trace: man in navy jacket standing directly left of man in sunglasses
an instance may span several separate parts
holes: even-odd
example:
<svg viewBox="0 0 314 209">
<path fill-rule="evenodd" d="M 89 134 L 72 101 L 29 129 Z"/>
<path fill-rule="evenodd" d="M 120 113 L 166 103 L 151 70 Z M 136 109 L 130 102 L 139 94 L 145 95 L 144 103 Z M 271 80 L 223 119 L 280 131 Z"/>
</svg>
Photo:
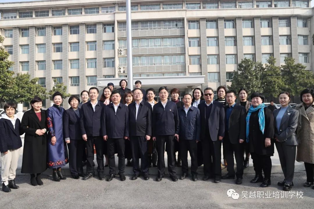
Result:
<svg viewBox="0 0 314 209">
<path fill-rule="evenodd" d="M 182 162 L 182 175 L 180 179 L 183 180 L 188 175 L 187 151 L 189 151 L 191 156 L 192 180 L 197 181 L 197 143 L 200 140 L 201 118 L 199 115 L 199 109 L 191 106 L 191 102 L 191 94 L 183 95 L 184 106 L 178 110 L 180 118 L 179 145 Z"/>
</svg>

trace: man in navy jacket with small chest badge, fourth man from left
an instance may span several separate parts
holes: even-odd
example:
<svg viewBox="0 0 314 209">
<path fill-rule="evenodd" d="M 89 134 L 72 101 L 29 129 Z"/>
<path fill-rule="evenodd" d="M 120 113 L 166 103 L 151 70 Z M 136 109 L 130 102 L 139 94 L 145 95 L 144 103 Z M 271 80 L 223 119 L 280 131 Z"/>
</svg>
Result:
<svg viewBox="0 0 314 209">
<path fill-rule="evenodd" d="M 159 88 L 160 101 L 154 105 L 153 111 L 153 140 L 158 150 L 158 176 L 161 181 L 165 171 L 165 148 L 168 157 L 168 171 L 173 181 L 177 181 L 174 159 L 174 140 L 179 140 L 179 114 L 176 103 L 168 100 L 168 88 Z"/>
</svg>

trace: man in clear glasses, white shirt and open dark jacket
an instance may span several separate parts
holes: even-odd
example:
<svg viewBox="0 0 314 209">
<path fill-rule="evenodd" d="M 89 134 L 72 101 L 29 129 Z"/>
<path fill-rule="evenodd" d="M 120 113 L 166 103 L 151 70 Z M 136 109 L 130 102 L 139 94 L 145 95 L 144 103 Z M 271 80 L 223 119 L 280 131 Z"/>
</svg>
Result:
<svg viewBox="0 0 314 209">
<path fill-rule="evenodd" d="M 143 100 L 140 88 L 133 90 L 135 102 L 129 104 L 129 135 L 132 149 L 133 172 L 131 180 L 136 180 L 142 170 L 144 180 L 149 180 L 147 142 L 152 135 L 152 106 Z M 141 157 L 141 170 L 139 168 L 139 156 Z"/>
</svg>

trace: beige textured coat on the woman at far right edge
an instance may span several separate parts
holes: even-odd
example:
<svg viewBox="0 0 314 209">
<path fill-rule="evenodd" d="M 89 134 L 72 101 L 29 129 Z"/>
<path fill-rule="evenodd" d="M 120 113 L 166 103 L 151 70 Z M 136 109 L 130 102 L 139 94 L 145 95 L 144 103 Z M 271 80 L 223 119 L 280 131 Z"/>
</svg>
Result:
<svg viewBox="0 0 314 209">
<path fill-rule="evenodd" d="M 314 102 L 305 111 L 304 104 L 298 104 L 295 107 L 300 112 L 297 128 L 297 155 L 299 162 L 314 164 Z"/>
</svg>

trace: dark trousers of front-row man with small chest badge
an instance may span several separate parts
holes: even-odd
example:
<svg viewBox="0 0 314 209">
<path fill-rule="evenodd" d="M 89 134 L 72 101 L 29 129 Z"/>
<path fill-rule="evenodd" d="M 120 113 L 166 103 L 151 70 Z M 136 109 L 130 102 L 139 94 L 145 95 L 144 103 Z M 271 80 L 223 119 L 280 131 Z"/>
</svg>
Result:
<svg viewBox="0 0 314 209">
<path fill-rule="evenodd" d="M 158 175 L 164 175 L 165 172 L 165 148 L 168 159 L 168 172 L 170 176 L 176 176 L 175 158 L 174 158 L 174 135 L 156 136 L 158 150 L 157 169 Z"/>
</svg>

